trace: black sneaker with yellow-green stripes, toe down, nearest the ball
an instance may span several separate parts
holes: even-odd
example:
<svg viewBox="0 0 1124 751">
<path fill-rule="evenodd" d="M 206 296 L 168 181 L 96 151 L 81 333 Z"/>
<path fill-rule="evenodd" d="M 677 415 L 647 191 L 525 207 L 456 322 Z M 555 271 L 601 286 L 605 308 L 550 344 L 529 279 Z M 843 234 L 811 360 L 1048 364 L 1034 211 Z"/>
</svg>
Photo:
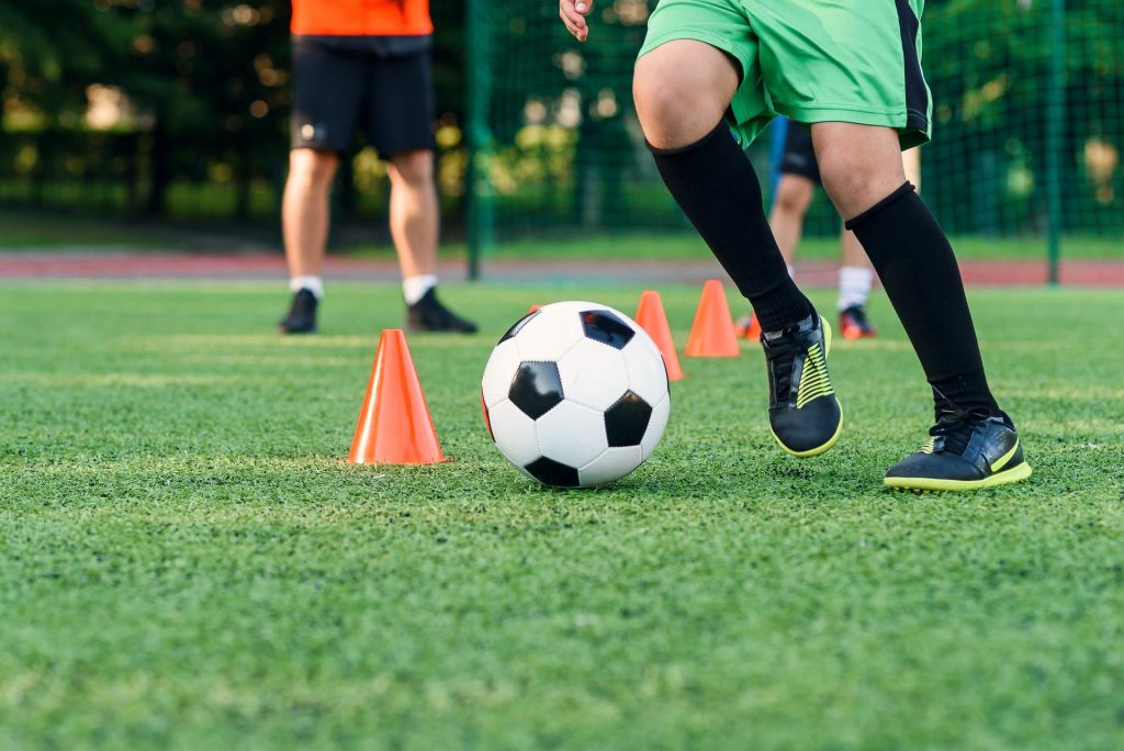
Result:
<svg viewBox="0 0 1124 751">
<path fill-rule="evenodd" d="M 794 456 L 816 456 L 835 445 L 843 410 L 827 374 L 832 329 L 818 313 L 779 332 L 762 332 L 769 371 L 769 425 Z"/>
</svg>

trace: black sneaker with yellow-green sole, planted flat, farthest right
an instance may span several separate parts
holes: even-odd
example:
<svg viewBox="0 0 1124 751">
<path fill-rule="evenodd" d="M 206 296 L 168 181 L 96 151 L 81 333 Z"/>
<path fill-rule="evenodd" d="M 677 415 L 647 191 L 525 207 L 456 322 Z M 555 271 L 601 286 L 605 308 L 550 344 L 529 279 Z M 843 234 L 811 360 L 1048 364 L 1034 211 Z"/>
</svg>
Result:
<svg viewBox="0 0 1124 751">
<path fill-rule="evenodd" d="M 904 490 L 976 490 L 1031 476 L 1015 425 L 1006 415 L 944 409 L 930 440 L 886 470 L 882 483 Z"/>
</svg>

